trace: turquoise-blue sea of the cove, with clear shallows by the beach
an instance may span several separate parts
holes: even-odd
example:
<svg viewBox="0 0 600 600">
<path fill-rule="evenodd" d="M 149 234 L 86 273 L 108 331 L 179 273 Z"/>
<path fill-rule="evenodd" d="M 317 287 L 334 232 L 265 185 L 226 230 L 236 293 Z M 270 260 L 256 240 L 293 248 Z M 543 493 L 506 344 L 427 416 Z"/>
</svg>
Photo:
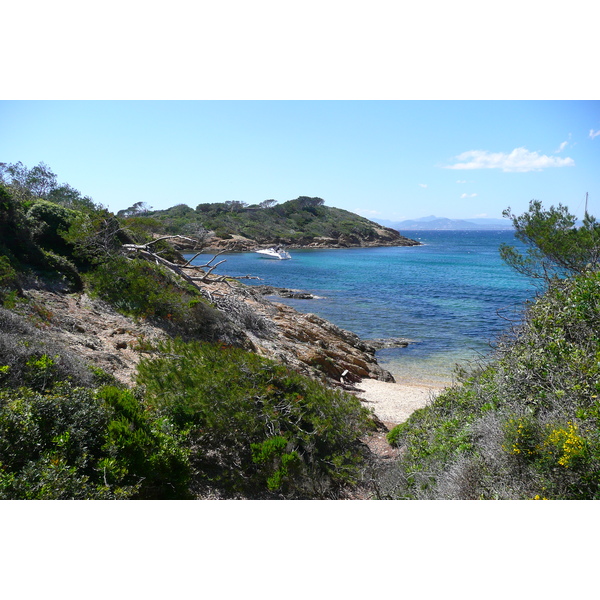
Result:
<svg viewBox="0 0 600 600">
<path fill-rule="evenodd" d="M 377 351 L 397 382 L 443 387 L 457 368 L 489 360 L 499 336 L 522 318 L 536 295 L 531 281 L 499 255 L 513 230 L 404 233 L 421 246 L 290 250 L 290 260 L 230 253 L 215 273 L 251 275 L 249 285 L 310 292 L 318 299 L 273 300 L 314 313 L 363 339 L 404 338 Z M 200 255 L 203 264 L 212 255 Z"/>
</svg>

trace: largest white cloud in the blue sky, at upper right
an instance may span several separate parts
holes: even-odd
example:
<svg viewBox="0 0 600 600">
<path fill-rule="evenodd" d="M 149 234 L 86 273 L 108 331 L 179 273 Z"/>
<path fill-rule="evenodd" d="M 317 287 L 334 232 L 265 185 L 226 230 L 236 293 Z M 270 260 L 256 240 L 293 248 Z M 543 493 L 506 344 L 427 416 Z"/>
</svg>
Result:
<svg viewBox="0 0 600 600">
<path fill-rule="evenodd" d="M 572 158 L 558 158 L 530 152 L 527 148 L 515 148 L 510 154 L 506 152 L 488 152 L 487 150 L 469 150 L 459 154 L 459 161 L 446 169 L 502 169 L 504 172 L 526 173 L 542 171 L 550 167 L 572 167 Z"/>
</svg>

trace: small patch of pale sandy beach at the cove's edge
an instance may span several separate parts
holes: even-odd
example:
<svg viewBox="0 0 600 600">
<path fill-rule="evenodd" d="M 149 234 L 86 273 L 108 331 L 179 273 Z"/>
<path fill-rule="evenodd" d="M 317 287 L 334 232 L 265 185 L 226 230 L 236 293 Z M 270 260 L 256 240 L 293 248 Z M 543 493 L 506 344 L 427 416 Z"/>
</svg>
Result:
<svg viewBox="0 0 600 600">
<path fill-rule="evenodd" d="M 376 379 L 363 379 L 356 385 L 362 390 L 358 398 L 384 423 L 398 424 L 406 421 L 417 409 L 426 406 L 441 388 L 427 385 L 386 383 Z"/>
</svg>

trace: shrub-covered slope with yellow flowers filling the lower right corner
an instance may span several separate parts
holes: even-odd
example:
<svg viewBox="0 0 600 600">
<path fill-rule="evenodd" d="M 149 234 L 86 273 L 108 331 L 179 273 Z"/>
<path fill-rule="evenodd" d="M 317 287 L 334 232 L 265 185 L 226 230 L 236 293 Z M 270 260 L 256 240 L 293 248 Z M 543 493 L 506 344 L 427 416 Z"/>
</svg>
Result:
<svg viewBox="0 0 600 600">
<path fill-rule="evenodd" d="M 495 360 L 390 433 L 396 494 L 600 498 L 600 273 L 555 281 Z"/>
</svg>

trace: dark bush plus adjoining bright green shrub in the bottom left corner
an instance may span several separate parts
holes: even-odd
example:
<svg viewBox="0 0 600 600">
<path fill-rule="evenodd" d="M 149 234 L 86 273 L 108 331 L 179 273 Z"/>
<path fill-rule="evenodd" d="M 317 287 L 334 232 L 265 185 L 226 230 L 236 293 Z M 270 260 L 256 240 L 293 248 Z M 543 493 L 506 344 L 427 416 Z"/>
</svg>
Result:
<svg viewBox="0 0 600 600">
<path fill-rule="evenodd" d="M 187 452 L 131 392 L 0 391 L 0 498 L 186 498 Z"/>
</svg>

